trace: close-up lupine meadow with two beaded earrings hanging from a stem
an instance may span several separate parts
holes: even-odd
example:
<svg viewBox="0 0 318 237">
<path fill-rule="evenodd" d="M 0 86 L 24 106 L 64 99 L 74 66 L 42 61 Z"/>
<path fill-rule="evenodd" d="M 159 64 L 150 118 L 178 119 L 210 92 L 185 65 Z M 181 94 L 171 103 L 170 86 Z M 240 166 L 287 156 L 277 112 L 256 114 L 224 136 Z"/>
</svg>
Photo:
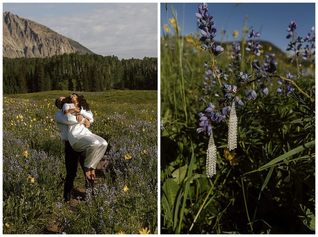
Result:
<svg viewBox="0 0 318 237">
<path fill-rule="evenodd" d="M 314 234 L 315 28 L 287 19 L 288 55 L 247 18 L 225 41 L 213 3 L 185 36 L 163 9 L 161 234 Z"/>
</svg>

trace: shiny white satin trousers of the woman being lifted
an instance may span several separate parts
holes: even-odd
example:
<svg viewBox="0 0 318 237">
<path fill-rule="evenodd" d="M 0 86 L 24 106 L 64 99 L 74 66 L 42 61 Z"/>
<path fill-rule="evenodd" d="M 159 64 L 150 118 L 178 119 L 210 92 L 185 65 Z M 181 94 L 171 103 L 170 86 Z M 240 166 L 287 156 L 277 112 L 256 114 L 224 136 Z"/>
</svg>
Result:
<svg viewBox="0 0 318 237">
<path fill-rule="evenodd" d="M 86 151 L 84 166 L 95 169 L 104 155 L 108 143 L 100 136 L 89 134 L 81 137 L 73 144 L 75 151 Z"/>
</svg>

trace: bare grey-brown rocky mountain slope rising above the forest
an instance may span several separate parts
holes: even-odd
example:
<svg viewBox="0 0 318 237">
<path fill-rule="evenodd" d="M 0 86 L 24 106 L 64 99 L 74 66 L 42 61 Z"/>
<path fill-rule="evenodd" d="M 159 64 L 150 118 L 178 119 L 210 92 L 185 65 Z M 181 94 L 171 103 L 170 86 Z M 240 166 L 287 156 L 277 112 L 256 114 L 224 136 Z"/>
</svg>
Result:
<svg viewBox="0 0 318 237">
<path fill-rule="evenodd" d="M 28 19 L 3 13 L 3 56 L 51 57 L 64 53 L 93 54 L 80 43 Z"/>
</svg>

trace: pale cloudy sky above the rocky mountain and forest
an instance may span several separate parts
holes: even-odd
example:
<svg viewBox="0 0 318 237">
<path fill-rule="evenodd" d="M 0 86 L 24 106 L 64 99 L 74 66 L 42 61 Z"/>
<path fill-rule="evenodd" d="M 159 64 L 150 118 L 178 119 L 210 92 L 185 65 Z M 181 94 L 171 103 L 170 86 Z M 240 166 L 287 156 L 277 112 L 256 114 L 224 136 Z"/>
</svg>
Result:
<svg viewBox="0 0 318 237">
<path fill-rule="evenodd" d="M 158 54 L 157 3 L 3 3 L 5 11 L 103 56 L 142 59 Z"/>
</svg>

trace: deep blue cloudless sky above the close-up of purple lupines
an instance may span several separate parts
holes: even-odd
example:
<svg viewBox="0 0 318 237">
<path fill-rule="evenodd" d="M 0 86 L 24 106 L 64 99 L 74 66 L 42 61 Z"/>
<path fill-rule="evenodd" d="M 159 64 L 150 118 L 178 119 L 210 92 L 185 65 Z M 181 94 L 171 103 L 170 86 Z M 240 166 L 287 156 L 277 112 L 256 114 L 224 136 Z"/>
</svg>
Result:
<svg viewBox="0 0 318 237">
<path fill-rule="evenodd" d="M 184 35 L 191 32 L 198 32 L 197 18 L 198 3 L 173 3 L 177 11 L 178 23 L 184 30 Z M 220 40 L 222 27 L 225 28 L 228 38 L 233 41 L 232 32 L 239 31 L 240 39 L 245 15 L 248 16 L 248 28 L 259 31 L 260 40 L 272 42 L 274 45 L 286 51 L 290 40 L 286 39 L 288 27 L 291 20 L 296 20 L 298 36 L 305 37 L 312 26 L 315 26 L 315 3 L 208 3 L 208 9 L 214 18 L 215 28 L 217 29 L 216 41 Z M 232 13 L 232 14 L 231 14 Z M 171 6 L 168 7 L 168 19 L 172 18 Z M 183 22 L 184 18 L 184 24 Z M 165 4 L 160 4 L 160 20 L 162 24 L 167 24 Z M 162 36 L 162 29 L 161 29 Z"/>
</svg>

